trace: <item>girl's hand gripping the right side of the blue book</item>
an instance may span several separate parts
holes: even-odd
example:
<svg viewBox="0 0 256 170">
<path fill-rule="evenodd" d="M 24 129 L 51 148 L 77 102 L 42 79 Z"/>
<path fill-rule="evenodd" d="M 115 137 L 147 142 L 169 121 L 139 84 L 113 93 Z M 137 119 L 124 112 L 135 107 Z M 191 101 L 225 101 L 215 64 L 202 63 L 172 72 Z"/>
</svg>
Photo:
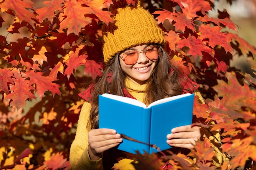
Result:
<svg viewBox="0 0 256 170">
<path fill-rule="evenodd" d="M 175 147 L 193 149 L 195 141 L 201 137 L 200 128 L 198 126 L 193 126 L 193 128 L 191 128 L 191 125 L 180 126 L 173 128 L 171 132 L 171 134 L 166 136 L 166 142 L 168 145 Z"/>
</svg>

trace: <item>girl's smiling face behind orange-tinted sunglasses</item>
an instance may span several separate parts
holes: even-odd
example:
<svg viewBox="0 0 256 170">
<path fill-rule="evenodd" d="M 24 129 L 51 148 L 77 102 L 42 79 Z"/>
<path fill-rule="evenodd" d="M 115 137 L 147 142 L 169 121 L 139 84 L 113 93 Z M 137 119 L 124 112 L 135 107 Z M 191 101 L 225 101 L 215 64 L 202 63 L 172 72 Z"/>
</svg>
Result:
<svg viewBox="0 0 256 170">
<path fill-rule="evenodd" d="M 148 59 L 143 51 L 147 51 L 147 56 L 155 56 L 159 54 L 159 47 L 153 45 L 139 45 L 127 49 L 119 55 L 122 70 L 126 73 L 128 78 L 132 79 L 138 84 L 144 84 L 149 79 L 155 66 L 157 65 L 157 61 L 159 58 L 157 55 L 153 59 Z M 135 62 L 130 62 L 130 60 L 128 60 L 128 57 L 132 55 L 137 55 L 136 52 L 138 52 L 138 60 Z M 127 63 L 130 65 L 128 65 Z"/>
</svg>

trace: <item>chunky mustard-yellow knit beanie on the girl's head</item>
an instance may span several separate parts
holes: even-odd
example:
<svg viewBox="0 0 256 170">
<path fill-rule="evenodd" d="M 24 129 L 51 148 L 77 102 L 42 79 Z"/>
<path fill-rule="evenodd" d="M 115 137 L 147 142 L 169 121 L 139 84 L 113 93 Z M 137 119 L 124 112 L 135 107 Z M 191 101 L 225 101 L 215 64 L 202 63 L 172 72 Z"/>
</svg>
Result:
<svg viewBox="0 0 256 170">
<path fill-rule="evenodd" d="M 119 8 L 114 21 L 115 26 L 109 26 L 103 34 L 105 63 L 132 46 L 166 43 L 163 31 L 158 27 L 156 20 L 142 7 Z"/>
</svg>

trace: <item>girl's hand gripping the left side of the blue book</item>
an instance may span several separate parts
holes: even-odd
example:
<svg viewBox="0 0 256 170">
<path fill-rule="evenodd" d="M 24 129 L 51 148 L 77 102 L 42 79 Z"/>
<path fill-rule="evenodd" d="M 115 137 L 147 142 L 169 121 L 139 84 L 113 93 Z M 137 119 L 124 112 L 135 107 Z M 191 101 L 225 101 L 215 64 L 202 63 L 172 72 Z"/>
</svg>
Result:
<svg viewBox="0 0 256 170">
<path fill-rule="evenodd" d="M 88 132 L 88 152 L 91 160 L 98 160 L 105 150 L 113 148 L 123 141 L 116 130 L 100 128 Z"/>
</svg>

